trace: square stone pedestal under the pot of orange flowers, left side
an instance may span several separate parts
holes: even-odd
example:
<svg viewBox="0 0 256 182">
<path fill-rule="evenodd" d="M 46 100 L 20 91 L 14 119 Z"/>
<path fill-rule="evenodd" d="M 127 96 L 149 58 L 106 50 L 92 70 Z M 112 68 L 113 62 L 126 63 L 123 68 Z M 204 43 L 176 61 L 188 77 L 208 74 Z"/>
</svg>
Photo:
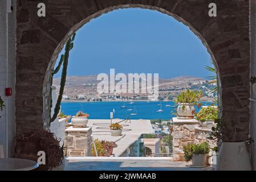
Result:
<svg viewBox="0 0 256 182">
<path fill-rule="evenodd" d="M 68 127 L 67 132 L 67 156 L 91 156 L 92 127 L 73 128 Z"/>
</svg>

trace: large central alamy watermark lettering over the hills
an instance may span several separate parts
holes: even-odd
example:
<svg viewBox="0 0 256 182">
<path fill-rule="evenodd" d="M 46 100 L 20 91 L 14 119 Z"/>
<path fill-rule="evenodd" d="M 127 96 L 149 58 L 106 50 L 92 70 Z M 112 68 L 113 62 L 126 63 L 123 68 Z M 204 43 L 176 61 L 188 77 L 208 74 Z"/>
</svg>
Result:
<svg viewBox="0 0 256 182">
<path fill-rule="evenodd" d="M 97 92 L 99 94 L 148 94 L 150 100 L 159 97 L 159 74 L 158 73 L 118 73 L 110 69 L 110 75 L 100 73 L 97 75 Z"/>
</svg>

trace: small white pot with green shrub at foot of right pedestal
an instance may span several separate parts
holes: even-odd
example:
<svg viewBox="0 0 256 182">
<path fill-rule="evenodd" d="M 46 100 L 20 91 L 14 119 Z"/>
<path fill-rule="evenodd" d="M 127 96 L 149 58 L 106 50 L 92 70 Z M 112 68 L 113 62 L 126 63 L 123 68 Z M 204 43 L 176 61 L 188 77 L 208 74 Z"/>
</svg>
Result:
<svg viewBox="0 0 256 182">
<path fill-rule="evenodd" d="M 192 160 L 193 167 L 205 167 L 206 157 L 209 154 L 209 143 L 203 142 L 200 144 L 186 144 L 183 146 L 185 153 L 185 160 L 189 162 Z"/>
</svg>

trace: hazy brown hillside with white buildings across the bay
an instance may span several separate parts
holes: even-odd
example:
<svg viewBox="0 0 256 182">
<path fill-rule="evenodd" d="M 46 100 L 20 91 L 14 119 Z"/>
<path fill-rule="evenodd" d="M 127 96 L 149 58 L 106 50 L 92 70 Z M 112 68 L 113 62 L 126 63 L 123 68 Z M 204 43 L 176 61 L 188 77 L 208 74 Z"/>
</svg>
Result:
<svg viewBox="0 0 256 182">
<path fill-rule="evenodd" d="M 97 92 L 97 84 L 100 81 L 97 80 L 96 75 L 90 76 L 68 76 L 66 85 L 64 88 L 64 95 L 67 95 L 71 100 L 76 100 L 77 96 L 82 94 L 86 96 L 86 99 L 101 98 L 101 95 Z M 118 81 L 116 81 L 118 82 Z M 208 80 L 201 77 L 180 76 L 174 78 L 159 78 L 159 96 L 164 100 L 170 100 L 175 98 L 183 92 L 185 89 L 202 90 L 204 92 L 205 100 L 212 100 L 213 93 L 210 92 L 214 88 L 214 85 L 206 84 Z M 54 78 L 53 86 L 56 86 L 57 93 L 59 92 L 60 78 Z M 123 97 L 143 98 L 147 94 L 120 94 Z M 138 97 L 139 96 L 139 97 Z"/>
</svg>

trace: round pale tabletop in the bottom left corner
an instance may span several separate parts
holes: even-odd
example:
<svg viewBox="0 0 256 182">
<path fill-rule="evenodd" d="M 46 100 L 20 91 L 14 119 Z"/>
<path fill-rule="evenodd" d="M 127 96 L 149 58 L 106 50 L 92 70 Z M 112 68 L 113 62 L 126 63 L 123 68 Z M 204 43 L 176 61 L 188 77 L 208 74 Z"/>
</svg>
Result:
<svg viewBox="0 0 256 182">
<path fill-rule="evenodd" d="M 0 159 L 0 171 L 30 171 L 38 166 L 38 163 L 28 159 Z"/>
</svg>

